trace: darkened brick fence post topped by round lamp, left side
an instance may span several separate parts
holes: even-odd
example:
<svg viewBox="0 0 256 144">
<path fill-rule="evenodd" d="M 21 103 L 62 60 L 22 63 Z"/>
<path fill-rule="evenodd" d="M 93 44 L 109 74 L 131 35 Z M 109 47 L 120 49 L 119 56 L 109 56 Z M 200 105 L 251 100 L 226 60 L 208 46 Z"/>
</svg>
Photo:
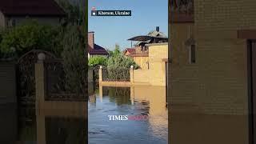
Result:
<svg viewBox="0 0 256 144">
<path fill-rule="evenodd" d="M 40 108 L 41 104 L 45 101 L 45 78 L 44 78 L 44 64 L 46 55 L 43 53 L 38 54 L 38 62 L 35 63 L 35 90 L 36 90 L 36 108 Z"/>
</svg>

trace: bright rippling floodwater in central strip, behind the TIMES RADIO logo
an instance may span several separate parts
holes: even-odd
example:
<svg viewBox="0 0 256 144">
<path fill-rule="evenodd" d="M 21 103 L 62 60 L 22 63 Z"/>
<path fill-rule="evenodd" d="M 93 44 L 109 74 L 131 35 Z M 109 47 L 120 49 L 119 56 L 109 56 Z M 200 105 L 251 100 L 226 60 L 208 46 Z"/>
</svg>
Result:
<svg viewBox="0 0 256 144">
<path fill-rule="evenodd" d="M 168 117 L 165 86 L 91 87 L 89 143 L 166 144 Z M 108 115 L 147 115 L 146 120 L 110 121 Z"/>
</svg>

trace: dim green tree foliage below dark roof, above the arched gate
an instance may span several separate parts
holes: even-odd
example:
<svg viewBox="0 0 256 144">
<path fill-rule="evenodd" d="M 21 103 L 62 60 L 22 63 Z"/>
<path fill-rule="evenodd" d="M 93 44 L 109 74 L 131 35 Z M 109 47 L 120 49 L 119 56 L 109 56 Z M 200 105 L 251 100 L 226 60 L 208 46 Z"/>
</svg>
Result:
<svg viewBox="0 0 256 144">
<path fill-rule="evenodd" d="M 57 0 L 57 2 L 67 14 L 62 26 L 43 26 L 28 19 L 18 26 L 0 30 L 0 58 L 18 58 L 32 49 L 50 51 L 61 57 L 63 49 L 61 42 L 69 26 L 81 26 L 81 30 L 86 34 L 87 2 L 82 0 L 78 3 L 66 0 Z"/>
</svg>

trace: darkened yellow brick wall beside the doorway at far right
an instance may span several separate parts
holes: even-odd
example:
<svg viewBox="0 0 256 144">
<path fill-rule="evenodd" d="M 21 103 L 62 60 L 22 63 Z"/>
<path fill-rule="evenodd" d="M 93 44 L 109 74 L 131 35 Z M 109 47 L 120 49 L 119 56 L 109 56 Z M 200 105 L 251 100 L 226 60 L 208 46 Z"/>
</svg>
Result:
<svg viewBox="0 0 256 144">
<path fill-rule="evenodd" d="M 254 0 L 197 0 L 199 98 L 207 114 L 247 114 L 246 40 L 237 30 L 256 28 Z M 207 81 L 206 81 L 207 79 Z"/>
</svg>

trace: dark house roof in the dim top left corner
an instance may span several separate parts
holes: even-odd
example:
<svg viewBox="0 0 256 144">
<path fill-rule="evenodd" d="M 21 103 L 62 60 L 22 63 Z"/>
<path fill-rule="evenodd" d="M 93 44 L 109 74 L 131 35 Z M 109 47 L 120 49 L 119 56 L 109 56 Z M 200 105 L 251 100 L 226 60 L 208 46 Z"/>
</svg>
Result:
<svg viewBox="0 0 256 144">
<path fill-rule="evenodd" d="M 65 16 L 54 0 L 0 0 L 0 10 L 7 16 Z"/>
</svg>

